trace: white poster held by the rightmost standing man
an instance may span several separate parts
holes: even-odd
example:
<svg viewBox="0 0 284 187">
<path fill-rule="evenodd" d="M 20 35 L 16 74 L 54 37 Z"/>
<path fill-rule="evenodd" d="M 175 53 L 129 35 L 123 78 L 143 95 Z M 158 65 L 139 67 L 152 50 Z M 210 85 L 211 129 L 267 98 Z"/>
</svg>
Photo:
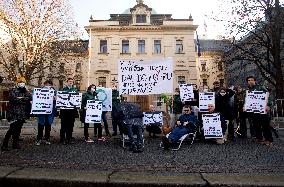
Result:
<svg viewBox="0 0 284 187">
<path fill-rule="evenodd" d="M 268 102 L 268 92 L 265 91 L 248 91 L 245 98 L 245 111 L 266 114 Z"/>
</svg>

